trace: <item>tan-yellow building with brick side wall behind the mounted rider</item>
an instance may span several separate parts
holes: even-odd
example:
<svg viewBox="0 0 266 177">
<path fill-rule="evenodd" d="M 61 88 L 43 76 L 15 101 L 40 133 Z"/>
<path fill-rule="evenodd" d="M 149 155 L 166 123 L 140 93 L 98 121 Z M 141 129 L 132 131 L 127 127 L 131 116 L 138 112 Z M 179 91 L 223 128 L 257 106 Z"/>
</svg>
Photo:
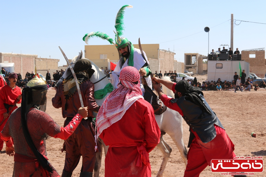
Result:
<svg viewBox="0 0 266 177">
<path fill-rule="evenodd" d="M 138 44 L 133 44 L 134 48 L 139 48 Z M 142 50 L 146 53 L 148 61 L 150 62 L 150 69 L 152 73 L 160 70 L 184 72 L 184 63 L 174 60 L 174 54 L 168 50 L 159 48 L 159 44 L 142 44 Z M 91 60 L 99 68 L 107 67 L 110 69 L 110 62 L 117 63 L 119 54 L 115 45 L 85 45 L 85 58 Z"/>
</svg>

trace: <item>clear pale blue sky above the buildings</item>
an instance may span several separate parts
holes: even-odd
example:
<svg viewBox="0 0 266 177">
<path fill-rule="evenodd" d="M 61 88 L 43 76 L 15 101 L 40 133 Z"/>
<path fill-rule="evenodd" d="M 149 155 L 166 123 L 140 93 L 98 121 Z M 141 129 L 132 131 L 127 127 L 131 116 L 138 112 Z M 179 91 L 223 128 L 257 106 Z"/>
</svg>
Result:
<svg viewBox="0 0 266 177">
<path fill-rule="evenodd" d="M 221 44 L 230 45 L 231 26 L 227 20 L 231 14 L 236 20 L 266 23 L 266 1 L 1 0 L 0 3 L 0 52 L 37 54 L 41 58 L 51 55 L 60 59 L 59 65 L 66 61 L 58 46 L 71 59 L 84 50 L 82 37 L 86 33 L 101 31 L 114 38 L 116 13 L 125 4 L 133 8 L 126 9 L 123 36 L 132 43 L 137 43 L 139 37 L 142 44 L 159 43 L 160 49 L 174 50 L 176 60 L 181 62 L 184 53 L 207 55 L 206 26 L 210 27 L 210 50 L 218 50 Z M 266 47 L 265 31 L 266 24 L 235 25 L 234 50 Z M 89 44 L 109 43 L 94 38 Z"/>
</svg>

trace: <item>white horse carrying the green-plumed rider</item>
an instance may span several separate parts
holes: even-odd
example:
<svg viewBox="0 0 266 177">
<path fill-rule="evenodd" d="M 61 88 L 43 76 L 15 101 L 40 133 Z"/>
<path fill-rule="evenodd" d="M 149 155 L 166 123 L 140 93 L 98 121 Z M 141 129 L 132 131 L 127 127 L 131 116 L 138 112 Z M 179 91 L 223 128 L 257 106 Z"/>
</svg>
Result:
<svg viewBox="0 0 266 177">
<path fill-rule="evenodd" d="M 77 60 L 79 60 L 81 58 L 82 58 L 82 51 L 81 51 L 80 55 L 78 55 L 77 57 L 74 57 L 72 59 L 71 65 L 73 68 L 74 68 L 74 64 L 77 62 Z M 95 73 L 90 78 L 90 81 L 95 83 L 96 81 L 99 81 L 101 78 L 104 78 L 106 75 L 93 62 L 91 62 L 91 64 L 92 64 L 92 68 L 95 70 Z M 59 84 L 63 81 L 62 79 L 66 79 L 70 75 L 71 75 L 71 71 L 67 68 L 64 75 L 58 81 L 56 86 L 59 86 Z M 170 80 L 169 77 L 166 77 L 165 79 Z M 108 83 L 110 83 L 110 81 L 108 80 L 107 77 L 104 78 L 103 80 L 101 80 L 100 82 L 95 83 L 94 84 L 94 91 L 103 89 Z M 173 92 L 164 86 L 163 86 L 163 91 L 168 96 L 171 96 L 172 98 L 174 97 Z M 100 99 L 100 100 L 96 99 L 96 103 L 98 105 L 102 105 L 103 101 L 106 99 L 108 94 L 103 99 Z M 96 117 L 96 115 L 95 115 L 95 117 Z M 187 150 L 186 150 L 186 147 L 185 147 L 184 142 L 183 142 L 182 117 L 178 112 L 167 108 L 166 112 L 164 112 L 163 114 L 155 115 L 155 119 L 156 119 L 156 122 L 158 123 L 158 126 L 160 127 L 160 130 L 162 133 L 162 135 L 160 137 L 160 143 L 157 145 L 157 147 L 163 153 L 163 161 L 162 161 L 162 164 L 161 164 L 160 169 L 158 171 L 157 177 L 162 177 L 163 172 L 164 172 L 165 167 L 166 167 L 166 163 L 167 163 L 168 158 L 170 157 L 170 153 L 172 151 L 171 147 L 163 139 L 163 135 L 165 133 L 170 135 L 170 137 L 172 138 L 172 140 L 174 141 L 174 143 L 176 144 L 177 148 L 180 151 L 180 154 L 181 154 L 182 159 L 184 160 L 185 166 L 187 164 L 187 160 L 186 160 Z M 101 159 L 102 159 L 102 150 L 104 149 L 105 155 L 107 154 L 107 150 L 108 150 L 108 146 L 106 146 L 100 138 L 98 138 L 98 142 L 100 143 L 100 147 L 98 147 L 98 148 L 101 149 L 101 152 L 96 153 L 94 177 L 99 176 L 100 167 L 101 167 Z"/>
</svg>

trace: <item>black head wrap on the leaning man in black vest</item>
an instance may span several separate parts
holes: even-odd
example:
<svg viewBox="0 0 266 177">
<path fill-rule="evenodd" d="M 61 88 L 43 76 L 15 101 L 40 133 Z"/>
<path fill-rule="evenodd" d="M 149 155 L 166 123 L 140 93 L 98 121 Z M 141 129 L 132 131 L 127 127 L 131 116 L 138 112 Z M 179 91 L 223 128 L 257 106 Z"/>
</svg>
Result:
<svg viewBox="0 0 266 177">
<path fill-rule="evenodd" d="M 207 112 L 208 114 L 212 115 L 210 110 L 204 104 L 203 100 L 200 98 L 200 94 L 202 94 L 203 96 L 203 93 L 200 88 L 192 87 L 192 85 L 187 81 L 179 81 L 176 83 L 175 90 L 180 92 L 182 96 L 185 96 L 186 100 L 189 99 L 194 104 L 200 106 L 203 112 Z"/>
</svg>

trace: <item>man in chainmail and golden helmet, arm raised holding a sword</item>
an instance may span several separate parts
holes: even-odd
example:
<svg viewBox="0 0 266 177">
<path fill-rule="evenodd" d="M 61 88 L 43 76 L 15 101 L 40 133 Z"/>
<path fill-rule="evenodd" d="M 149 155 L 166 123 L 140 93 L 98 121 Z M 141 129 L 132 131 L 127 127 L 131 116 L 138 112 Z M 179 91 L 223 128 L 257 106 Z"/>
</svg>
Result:
<svg viewBox="0 0 266 177">
<path fill-rule="evenodd" d="M 87 108 L 80 108 L 66 127 L 60 127 L 44 112 L 47 99 L 45 81 L 36 74 L 27 86 L 22 90 L 21 107 L 10 115 L 1 132 L 1 138 L 6 142 L 6 153 L 14 155 L 13 177 L 59 177 L 46 157 L 46 139 L 48 136 L 67 139 L 82 118 L 87 117 Z"/>
</svg>

